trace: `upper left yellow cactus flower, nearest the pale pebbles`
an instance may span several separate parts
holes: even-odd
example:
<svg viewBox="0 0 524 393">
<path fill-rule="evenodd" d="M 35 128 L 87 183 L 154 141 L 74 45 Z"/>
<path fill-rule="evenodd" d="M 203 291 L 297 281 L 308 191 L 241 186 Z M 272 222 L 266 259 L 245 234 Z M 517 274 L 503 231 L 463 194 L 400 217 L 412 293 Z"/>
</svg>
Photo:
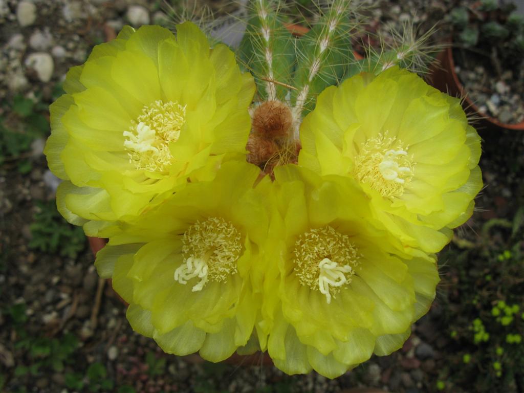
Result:
<svg viewBox="0 0 524 393">
<path fill-rule="evenodd" d="M 132 220 L 188 178 L 209 180 L 221 161 L 244 159 L 253 77 L 189 22 L 176 37 L 124 27 L 68 72 L 64 90 L 50 107 L 45 154 L 74 224 Z"/>
</svg>

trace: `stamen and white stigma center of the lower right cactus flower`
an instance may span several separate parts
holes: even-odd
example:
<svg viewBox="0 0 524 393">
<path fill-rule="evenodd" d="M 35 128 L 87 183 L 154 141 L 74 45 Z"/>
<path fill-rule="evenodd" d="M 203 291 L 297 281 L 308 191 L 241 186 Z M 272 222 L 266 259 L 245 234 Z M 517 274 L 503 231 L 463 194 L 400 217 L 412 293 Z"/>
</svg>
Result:
<svg viewBox="0 0 524 393">
<path fill-rule="evenodd" d="M 351 282 L 359 264 L 357 248 L 350 238 L 329 225 L 300 235 L 293 254 L 300 283 L 320 291 L 328 304 L 341 287 Z"/>
</svg>

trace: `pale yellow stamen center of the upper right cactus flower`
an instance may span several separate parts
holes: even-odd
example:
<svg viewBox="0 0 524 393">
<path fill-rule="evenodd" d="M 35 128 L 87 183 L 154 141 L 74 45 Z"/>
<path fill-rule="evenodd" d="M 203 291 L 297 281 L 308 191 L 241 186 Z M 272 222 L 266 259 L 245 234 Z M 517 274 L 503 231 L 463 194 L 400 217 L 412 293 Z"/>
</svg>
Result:
<svg viewBox="0 0 524 393">
<path fill-rule="evenodd" d="M 361 145 L 355 159 L 355 177 L 386 198 L 400 196 L 413 177 L 408 148 L 386 132 Z"/>
</svg>

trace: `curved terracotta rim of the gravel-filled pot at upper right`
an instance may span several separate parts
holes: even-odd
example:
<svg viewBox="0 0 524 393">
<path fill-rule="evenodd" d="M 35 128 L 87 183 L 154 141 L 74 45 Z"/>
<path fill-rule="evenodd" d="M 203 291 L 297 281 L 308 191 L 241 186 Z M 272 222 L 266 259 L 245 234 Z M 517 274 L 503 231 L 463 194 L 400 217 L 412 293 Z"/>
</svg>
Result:
<svg viewBox="0 0 524 393">
<path fill-rule="evenodd" d="M 433 67 L 430 84 L 451 96 L 464 97 L 462 106 L 467 113 L 473 114 L 475 118 L 478 118 L 475 125 L 483 139 L 497 139 L 496 132 L 501 130 L 524 130 L 524 121 L 516 124 L 506 124 L 479 112 L 478 106 L 470 99 L 467 90 L 455 72 L 455 61 L 453 60 L 453 49 L 451 47 L 440 52 L 437 59 L 440 62 L 440 66 Z"/>
</svg>

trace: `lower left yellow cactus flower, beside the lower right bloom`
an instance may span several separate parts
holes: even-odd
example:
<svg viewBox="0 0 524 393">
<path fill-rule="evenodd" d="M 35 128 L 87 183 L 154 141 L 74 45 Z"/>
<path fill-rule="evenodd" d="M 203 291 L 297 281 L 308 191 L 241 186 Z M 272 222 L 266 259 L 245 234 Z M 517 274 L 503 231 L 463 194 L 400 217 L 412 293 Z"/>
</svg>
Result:
<svg viewBox="0 0 524 393">
<path fill-rule="evenodd" d="M 133 329 L 163 351 L 219 362 L 252 337 L 269 222 L 253 188 L 259 172 L 223 163 L 214 180 L 190 183 L 137 223 L 104 233 L 110 242 L 95 266 L 129 303 Z"/>
</svg>

